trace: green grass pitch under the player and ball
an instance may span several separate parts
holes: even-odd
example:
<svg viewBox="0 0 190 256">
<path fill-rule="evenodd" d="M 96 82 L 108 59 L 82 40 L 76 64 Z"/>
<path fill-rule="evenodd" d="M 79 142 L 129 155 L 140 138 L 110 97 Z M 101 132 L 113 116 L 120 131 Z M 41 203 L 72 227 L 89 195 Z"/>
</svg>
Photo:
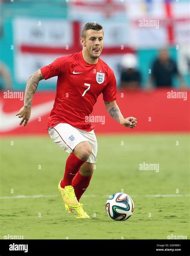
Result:
<svg viewBox="0 0 190 256">
<path fill-rule="evenodd" d="M 121 134 L 97 140 L 96 169 L 81 198 L 91 219 L 81 220 L 65 211 L 58 190 L 69 154 L 48 136 L 2 138 L 0 239 L 8 234 L 24 239 L 167 239 L 171 234 L 189 239 L 188 135 Z M 143 162 L 159 163 L 159 172 L 140 171 Z M 129 220 L 113 221 L 105 202 L 122 189 L 133 198 L 135 210 Z"/>
</svg>

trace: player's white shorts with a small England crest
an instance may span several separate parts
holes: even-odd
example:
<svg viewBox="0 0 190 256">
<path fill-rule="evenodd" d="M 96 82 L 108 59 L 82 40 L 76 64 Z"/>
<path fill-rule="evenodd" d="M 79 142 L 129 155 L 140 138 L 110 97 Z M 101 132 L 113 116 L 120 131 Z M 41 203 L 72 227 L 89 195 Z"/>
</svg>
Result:
<svg viewBox="0 0 190 256">
<path fill-rule="evenodd" d="M 73 153 L 73 149 L 82 141 L 88 141 L 92 148 L 92 153 L 87 159 L 89 163 L 96 162 L 97 156 L 97 139 L 94 130 L 86 132 L 71 126 L 70 124 L 57 124 L 49 128 L 49 135 L 52 140 L 68 153 Z"/>
</svg>

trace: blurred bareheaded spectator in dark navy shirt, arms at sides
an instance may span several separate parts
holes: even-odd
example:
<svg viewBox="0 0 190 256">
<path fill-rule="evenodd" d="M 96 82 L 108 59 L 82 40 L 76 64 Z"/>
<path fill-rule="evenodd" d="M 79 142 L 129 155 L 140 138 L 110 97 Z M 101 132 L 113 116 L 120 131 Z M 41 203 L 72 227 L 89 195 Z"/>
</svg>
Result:
<svg viewBox="0 0 190 256">
<path fill-rule="evenodd" d="M 152 76 L 148 87 L 172 87 L 172 78 L 177 75 L 180 81 L 180 87 L 186 87 L 184 78 L 180 74 L 177 64 L 172 60 L 166 49 L 159 52 L 158 58 L 152 64 Z"/>
</svg>

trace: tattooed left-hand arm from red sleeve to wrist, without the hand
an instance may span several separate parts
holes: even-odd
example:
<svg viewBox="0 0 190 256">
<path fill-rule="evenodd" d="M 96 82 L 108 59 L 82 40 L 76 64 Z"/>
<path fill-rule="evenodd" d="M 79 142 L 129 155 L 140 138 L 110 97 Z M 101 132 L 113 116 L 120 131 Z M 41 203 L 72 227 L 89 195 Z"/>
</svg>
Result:
<svg viewBox="0 0 190 256">
<path fill-rule="evenodd" d="M 24 93 L 24 107 L 32 107 L 34 93 L 38 87 L 38 83 L 42 79 L 44 79 L 44 77 L 42 76 L 40 69 L 29 77 L 26 84 L 26 90 Z"/>
</svg>

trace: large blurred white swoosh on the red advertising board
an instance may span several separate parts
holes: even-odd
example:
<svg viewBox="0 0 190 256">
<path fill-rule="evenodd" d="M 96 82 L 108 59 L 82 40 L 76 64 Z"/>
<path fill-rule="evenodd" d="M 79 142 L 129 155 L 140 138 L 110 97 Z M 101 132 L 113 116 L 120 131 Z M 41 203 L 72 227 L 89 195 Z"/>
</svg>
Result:
<svg viewBox="0 0 190 256">
<path fill-rule="evenodd" d="M 3 104 L 0 102 L 0 132 L 8 132 L 11 130 L 14 130 L 18 128 L 20 125 L 20 121 L 22 118 L 18 118 L 18 116 L 15 116 L 16 113 L 19 111 L 19 109 L 15 110 L 14 112 L 4 112 L 3 111 Z M 53 101 L 47 101 L 45 103 L 41 103 L 38 105 L 34 105 L 32 107 L 31 116 L 28 122 L 33 121 L 37 119 L 39 116 L 45 116 L 46 114 L 49 114 L 51 109 L 53 108 Z M 28 124 L 27 124 L 28 125 Z"/>
</svg>

